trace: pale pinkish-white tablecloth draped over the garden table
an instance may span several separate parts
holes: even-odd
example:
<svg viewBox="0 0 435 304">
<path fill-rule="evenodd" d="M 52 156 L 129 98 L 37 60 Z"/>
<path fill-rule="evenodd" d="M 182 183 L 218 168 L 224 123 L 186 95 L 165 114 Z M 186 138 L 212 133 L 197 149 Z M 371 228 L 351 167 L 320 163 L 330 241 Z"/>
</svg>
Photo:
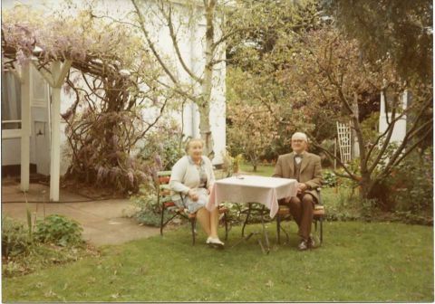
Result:
<svg viewBox="0 0 435 304">
<path fill-rule="evenodd" d="M 212 211 L 222 202 L 260 203 L 266 205 L 273 218 L 278 212 L 278 199 L 296 196 L 297 181 L 265 176 L 232 176 L 215 182 L 207 209 Z"/>
</svg>

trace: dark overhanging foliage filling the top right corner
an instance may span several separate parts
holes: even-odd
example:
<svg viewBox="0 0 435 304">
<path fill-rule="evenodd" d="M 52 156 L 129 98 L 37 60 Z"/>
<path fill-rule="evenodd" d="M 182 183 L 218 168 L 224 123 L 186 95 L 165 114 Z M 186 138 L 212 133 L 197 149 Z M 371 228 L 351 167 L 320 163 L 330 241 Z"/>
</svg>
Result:
<svg viewBox="0 0 435 304">
<path fill-rule="evenodd" d="M 432 2 L 323 0 L 335 25 L 360 43 L 373 62 L 391 57 L 403 80 L 432 75 Z"/>
</svg>

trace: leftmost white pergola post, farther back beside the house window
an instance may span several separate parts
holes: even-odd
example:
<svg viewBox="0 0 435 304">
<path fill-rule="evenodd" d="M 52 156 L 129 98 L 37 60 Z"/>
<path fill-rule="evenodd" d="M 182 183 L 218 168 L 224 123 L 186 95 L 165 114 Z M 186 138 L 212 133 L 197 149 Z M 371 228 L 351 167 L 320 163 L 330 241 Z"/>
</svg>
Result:
<svg viewBox="0 0 435 304">
<path fill-rule="evenodd" d="M 30 66 L 24 64 L 21 71 L 21 185 L 29 190 L 30 181 Z"/>
</svg>

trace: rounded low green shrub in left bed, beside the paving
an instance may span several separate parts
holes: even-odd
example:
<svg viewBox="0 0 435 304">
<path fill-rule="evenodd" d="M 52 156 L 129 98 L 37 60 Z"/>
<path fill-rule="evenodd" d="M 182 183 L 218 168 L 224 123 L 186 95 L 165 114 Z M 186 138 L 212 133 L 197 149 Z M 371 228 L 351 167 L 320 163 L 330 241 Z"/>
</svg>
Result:
<svg viewBox="0 0 435 304">
<path fill-rule="evenodd" d="M 34 238 L 60 246 L 82 244 L 82 226 L 66 216 L 51 214 L 36 223 Z"/>
</svg>

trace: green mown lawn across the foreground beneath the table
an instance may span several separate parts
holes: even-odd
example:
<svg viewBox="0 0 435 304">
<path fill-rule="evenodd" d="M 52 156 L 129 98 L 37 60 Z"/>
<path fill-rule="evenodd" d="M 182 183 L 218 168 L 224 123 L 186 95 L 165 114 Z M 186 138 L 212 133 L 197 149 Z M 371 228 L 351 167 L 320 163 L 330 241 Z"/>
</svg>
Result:
<svg viewBox="0 0 435 304">
<path fill-rule="evenodd" d="M 102 249 L 102 257 L 3 280 L 4 301 L 433 301 L 433 228 L 401 223 L 324 223 L 324 245 L 261 252 L 254 238 L 208 248 L 189 226 Z M 259 225 L 248 225 L 247 232 Z M 222 230 L 220 231 L 222 233 Z"/>
</svg>

